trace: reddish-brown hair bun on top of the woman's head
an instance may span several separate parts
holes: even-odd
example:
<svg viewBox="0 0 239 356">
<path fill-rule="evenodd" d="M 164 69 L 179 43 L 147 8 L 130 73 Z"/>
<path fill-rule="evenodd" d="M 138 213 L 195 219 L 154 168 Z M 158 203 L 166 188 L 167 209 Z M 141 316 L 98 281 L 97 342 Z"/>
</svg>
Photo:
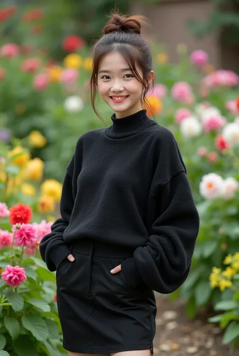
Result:
<svg viewBox="0 0 239 356">
<path fill-rule="evenodd" d="M 106 35 L 115 31 L 123 31 L 140 35 L 142 25 L 147 25 L 144 16 L 135 15 L 125 17 L 117 13 L 113 13 L 109 21 L 104 26 L 104 34 Z"/>
</svg>

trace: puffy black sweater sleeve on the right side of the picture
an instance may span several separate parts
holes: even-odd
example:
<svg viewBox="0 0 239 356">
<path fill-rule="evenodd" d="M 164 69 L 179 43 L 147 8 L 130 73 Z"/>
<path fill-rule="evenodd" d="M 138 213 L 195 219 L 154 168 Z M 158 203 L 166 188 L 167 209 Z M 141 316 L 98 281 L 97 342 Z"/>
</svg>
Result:
<svg viewBox="0 0 239 356">
<path fill-rule="evenodd" d="M 143 280 L 149 288 L 163 294 L 173 292 L 187 279 L 199 232 L 199 215 L 191 185 L 173 141 L 170 141 L 170 164 L 165 171 L 161 168 L 168 156 L 165 147 L 150 193 L 154 214 L 148 241 L 122 263 L 122 273 L 131 285 L 136 286 Z M 172 172 L 176 173 L 172 175 Z M 167 175 L 171 178 L 165 182 Z"/>
</svg>

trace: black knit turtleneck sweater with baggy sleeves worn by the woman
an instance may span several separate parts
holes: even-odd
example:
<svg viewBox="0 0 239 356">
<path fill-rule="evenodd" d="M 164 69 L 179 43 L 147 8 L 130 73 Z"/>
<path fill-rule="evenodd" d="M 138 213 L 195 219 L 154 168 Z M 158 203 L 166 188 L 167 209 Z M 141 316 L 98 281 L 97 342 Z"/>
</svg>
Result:
<svg viewBox="0 0 239 356">
<path fill-rule="evenodd" d="M 141 110 L 84 133 L 66 168 L 61 218 L 40 242 L 50 271 L 89 237 L 133 248 L 122 263 L 132 286 L 142 280 L 170 293 L 188 277 L 199 215 L 172 133 Z"/>
</svg>

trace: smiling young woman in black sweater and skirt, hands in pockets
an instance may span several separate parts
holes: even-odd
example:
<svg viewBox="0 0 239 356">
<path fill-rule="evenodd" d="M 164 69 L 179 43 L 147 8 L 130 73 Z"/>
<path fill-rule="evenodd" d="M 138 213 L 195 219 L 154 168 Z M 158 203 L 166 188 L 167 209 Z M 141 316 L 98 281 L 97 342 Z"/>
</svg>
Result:
<svg viewBox="0 0 239 356">
<path fill-rule="evenodd" d="M 40 243 L 42 259 L 56 270 L 71 356 L 152 356 L 154 291 L 184 283 L 198 235 L 177 143 L 142 109 L 154 76 L 143 23 L 113 14 L 94 44 L 92 106 L 98 115 L 98 90 L 114 112 L 112 125 L 79 138 L 66 168 L 62 218 Z"/>
</svg>

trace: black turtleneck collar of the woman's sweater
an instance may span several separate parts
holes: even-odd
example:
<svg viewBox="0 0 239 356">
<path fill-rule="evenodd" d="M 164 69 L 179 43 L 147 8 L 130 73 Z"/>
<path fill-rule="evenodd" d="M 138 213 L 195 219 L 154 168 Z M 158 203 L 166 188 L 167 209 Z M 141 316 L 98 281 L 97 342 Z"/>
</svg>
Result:
<svg viewBox="0 0 239 356">
<path fill-rule="evenodd" d="M 142 109 L 135 114 L 116 119 L 115 113 L 111 116 L 112 125 L 105 129 L 105 134 L 110 138 L 123 138 L 139 133 L 151 125 L 156 124 L 151 120 L 146 110 Z"/>
</svg>

